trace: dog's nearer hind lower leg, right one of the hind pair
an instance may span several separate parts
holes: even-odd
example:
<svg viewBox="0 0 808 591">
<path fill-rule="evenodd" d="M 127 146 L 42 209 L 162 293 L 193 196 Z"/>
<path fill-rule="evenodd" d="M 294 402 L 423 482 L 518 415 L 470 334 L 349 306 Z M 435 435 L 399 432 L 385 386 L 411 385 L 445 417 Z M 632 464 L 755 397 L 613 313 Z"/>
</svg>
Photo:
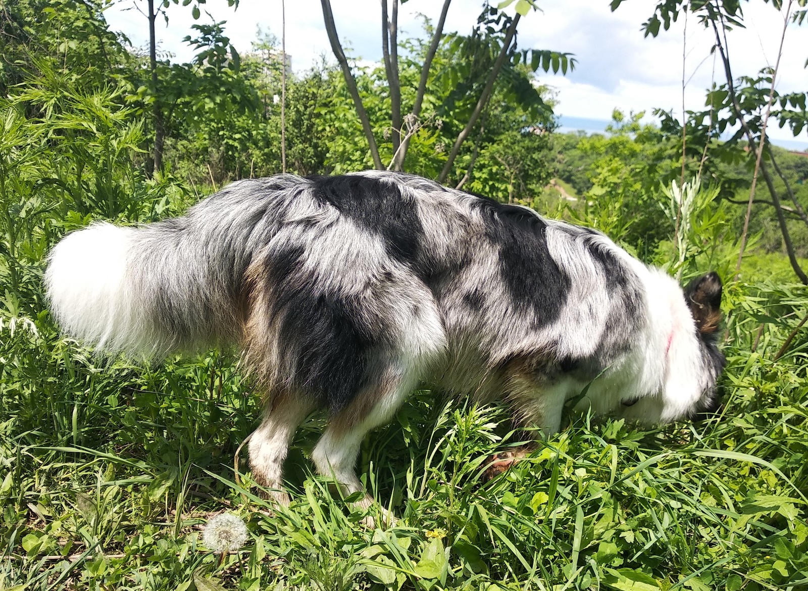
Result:
<svg viewBox="0 0 808 591">
<path fill-rule="evenodd" d="M 356 475 L 356 456 L 362 440 L 373 428 L 390 420 L 418 378 L 412 370 L 385 372 L 381 380 L 361 390 L 347 407 L 331 417 L 314 447 L 312 460 L 320 475 L 336 480 L 343 496 L 364 491 Z M 372 503 L 368 494 L 358 502 L 364 508 Z"/>
</svg>

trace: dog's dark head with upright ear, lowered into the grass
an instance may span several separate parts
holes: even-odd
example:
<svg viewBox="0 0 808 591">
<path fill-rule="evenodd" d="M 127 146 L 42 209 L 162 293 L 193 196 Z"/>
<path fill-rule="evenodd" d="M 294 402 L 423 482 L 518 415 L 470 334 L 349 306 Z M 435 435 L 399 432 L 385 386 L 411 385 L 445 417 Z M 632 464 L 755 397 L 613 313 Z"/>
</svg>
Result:
<svg viewBox="0 0 808 591">
<path fill-rule="evenodd" d="M 692 418 L 716 411 L 720 403 L 716 383 L 726 365 L 726 358 L 718 350 L 718 329 L 722 321 L 722 290 L 721 278 L 716 272 L 696 277 L 684 289 L 684 300 L 696 324 L 703 386 L 701 398 L 690 413 Z"/>
</svg>

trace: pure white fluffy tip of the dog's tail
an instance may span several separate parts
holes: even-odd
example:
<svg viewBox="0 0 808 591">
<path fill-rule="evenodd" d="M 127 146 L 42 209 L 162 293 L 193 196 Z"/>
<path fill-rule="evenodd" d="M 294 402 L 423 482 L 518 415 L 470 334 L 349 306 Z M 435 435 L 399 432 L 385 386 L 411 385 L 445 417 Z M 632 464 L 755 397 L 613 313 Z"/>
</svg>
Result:
<svg viewBox="0 0 808 591">
<path fill-rule="evenodd" d="M 135 228 L 98 223 L 51 251 L 44 283 L 61 328 L 105 352 L 154 354 L 158 340 L 129 274 Z"/>
</svg>

